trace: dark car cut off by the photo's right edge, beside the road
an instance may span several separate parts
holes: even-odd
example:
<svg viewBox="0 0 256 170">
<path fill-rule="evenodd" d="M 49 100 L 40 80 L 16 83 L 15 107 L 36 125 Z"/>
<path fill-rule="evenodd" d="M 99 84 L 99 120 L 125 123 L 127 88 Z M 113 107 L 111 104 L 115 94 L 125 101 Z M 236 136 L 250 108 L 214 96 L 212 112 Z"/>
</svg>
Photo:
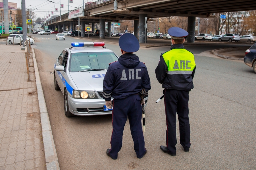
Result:
<svg viewBox="0 0 256 170">
<path fill-rule="evenodd" d="M 249 67 L 253 67 L 253 71 L 256 73 L 256 43 L 245 51 L 244 62 Z"/>
</svg>

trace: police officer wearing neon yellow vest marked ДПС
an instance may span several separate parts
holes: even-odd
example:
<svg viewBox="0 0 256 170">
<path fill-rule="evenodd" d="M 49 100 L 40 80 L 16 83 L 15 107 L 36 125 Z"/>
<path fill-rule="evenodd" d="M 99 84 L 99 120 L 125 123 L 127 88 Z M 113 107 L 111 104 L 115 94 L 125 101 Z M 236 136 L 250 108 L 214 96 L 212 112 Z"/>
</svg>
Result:
<svg viewBox="0 0 256 170">
<path fill-rule="evenodd" d="M 188 93 L 194 88 L 193 78 L 195 73 L 194 55 L 184 49 L 184 37 L 188 32 L 172 27 L 168 30 L 172 36 L 171 50 L 160 56 L 155 70 L 156 77 L 162 87 L 165 88 L 165 116 L 166 116 L 166 146 L 160 149 L 176 156 L 176 112 L 179 119 L 179 142 L 185 152 L 190 148 L 190 127 L 188 118 Z"/>
</svg>

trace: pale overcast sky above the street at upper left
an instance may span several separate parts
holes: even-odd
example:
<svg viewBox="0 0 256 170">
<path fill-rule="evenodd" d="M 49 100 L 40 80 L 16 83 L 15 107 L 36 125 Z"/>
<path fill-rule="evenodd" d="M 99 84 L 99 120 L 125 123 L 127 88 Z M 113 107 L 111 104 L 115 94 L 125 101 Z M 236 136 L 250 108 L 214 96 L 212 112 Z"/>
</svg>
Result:
<svg viewBox="0 0 256 170">
<path fill-rule="evenodd" d="M 53 3 L 49 1 L 53 1 Z M 48 15 L 48 11 L 49 11 L 49 14 L 51 13 L 51 8 L 52 8 L 52 11 L 54 11 L 54 4 L 55 4 L 55 8 L 58 8 L 58 12 L 55 12 L 55 14 L 60 15 L 60 2 L 61 4 L 64 4 L 64 8 L 61 9 L 61 14 L 68 12 L 68 4 L 69 4 L 69 10 L 74 10 L 77 7 L 83 6 L 83 0 L 73 0 L 73 3 L 69 3 L 69 0 L 49 0 L 49 1 L 48 0 L 26 0 L 26 8 L 31 10 L 35 9 L 33 11 L 36 14 L 36 17 L 43 18 L 44 16 Z M 94 1 L 97 1 L 97 0 L 84 0 L 84 3 L 94 2 Z M 0 0 L 0 2 L 2 1 Z M 8 0 L 8 2 L 17 3 L 17 7 L 21 8 L 21 0 Z"/>
</svg>

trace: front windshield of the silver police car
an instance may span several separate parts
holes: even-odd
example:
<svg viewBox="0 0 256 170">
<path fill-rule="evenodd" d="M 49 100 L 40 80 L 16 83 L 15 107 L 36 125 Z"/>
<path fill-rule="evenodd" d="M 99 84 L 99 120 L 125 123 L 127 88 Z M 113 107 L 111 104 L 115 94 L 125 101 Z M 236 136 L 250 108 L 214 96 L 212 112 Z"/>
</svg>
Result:
<svg viewBox="0 0 256 170">
<path fill-rule="evenodd" d="M 107 69 L 108 64 L 117 61 L 113 52 L 81 52 L 72 53 L 70 58 L 70 72 L 78 72 L 91 69 Z"/>
</svg>

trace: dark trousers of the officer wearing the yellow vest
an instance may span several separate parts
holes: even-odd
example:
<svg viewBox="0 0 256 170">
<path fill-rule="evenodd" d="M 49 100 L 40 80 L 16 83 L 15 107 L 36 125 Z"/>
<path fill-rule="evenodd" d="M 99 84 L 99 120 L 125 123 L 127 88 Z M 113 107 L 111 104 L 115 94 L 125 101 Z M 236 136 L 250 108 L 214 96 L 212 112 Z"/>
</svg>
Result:
<svg viewBox="0 0 256 170">
<path fill-rule="evenodd" d="M 186 90 L 165 89 L 166 145 L 169 153 L 176 153 L 176 112 L 179 119 L 179 142 L 185 150 L 190 147 L 190 126 L 188 118 L 188 93 Z"/>
</svg>

